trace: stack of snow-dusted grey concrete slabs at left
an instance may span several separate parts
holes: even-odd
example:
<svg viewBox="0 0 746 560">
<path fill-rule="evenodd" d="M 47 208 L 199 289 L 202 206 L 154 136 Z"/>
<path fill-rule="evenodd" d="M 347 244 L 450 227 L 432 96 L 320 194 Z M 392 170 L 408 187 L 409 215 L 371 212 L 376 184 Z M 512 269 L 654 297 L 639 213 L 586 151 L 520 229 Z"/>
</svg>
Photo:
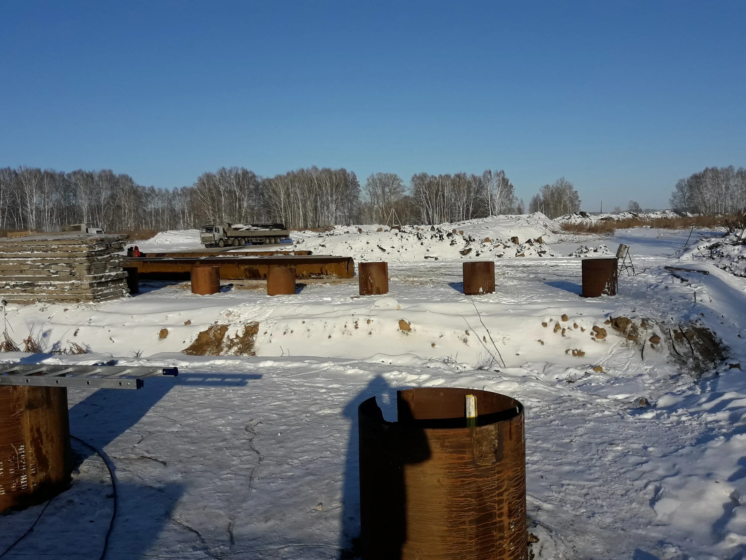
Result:
<svg viewBox="0 0 746 560">
<path fill-rule="evenodd" d="M 96 302 L 126 296 L 124 235 L 39 234 L 0 238 L 0 299 Z"/>
</svg>

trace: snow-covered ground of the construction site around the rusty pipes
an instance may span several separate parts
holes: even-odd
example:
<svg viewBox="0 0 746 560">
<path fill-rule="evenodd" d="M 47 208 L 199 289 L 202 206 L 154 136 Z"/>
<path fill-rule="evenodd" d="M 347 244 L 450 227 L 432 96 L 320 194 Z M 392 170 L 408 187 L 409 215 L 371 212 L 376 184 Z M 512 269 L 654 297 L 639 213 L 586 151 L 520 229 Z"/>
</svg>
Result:
<svg viewBox="0 0 746 560">
<path fill-rule="evenodd" d="M 745 558 L 746 279 L 680 251 L 688 230 L 555 228 L 535 215 L 294 232 L 315 254 L 389 261 L 390 293 L 360 297 L 357 278 L 274 298 L 260 283 L 195 296 L 151 282 L 95 305 L 8 305 L 16 341 L 91 352 L 1 357 L 179 367 L 140 391 L 69 390 L 72 434 L 116 465 L 108 559 L 354 558 L 357 405 L 376 395 L 392 420 L 395 391 L 432 386 L 524 403 L 536 558 Z M 618 243 L 638 276 L 581 298 L 569 255 Z M 196 231 L 138 244 L 199 247 Z M 463 294 L 466 258 L 495 259 L 494 294 Z M 196 348 L 221 355 L 182 352 Z M 4 558 L 100 556 L 112 488 L 73 445 L 72 488 Z M 0 517 L 0 553 L 43 507 Z"/>
</svg>

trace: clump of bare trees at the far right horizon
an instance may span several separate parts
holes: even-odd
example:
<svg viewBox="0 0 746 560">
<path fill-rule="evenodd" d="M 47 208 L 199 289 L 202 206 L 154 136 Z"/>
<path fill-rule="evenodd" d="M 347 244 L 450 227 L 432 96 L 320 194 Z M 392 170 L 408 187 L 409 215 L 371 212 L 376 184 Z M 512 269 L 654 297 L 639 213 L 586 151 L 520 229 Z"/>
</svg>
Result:
<svg viewBox="0 0 746 560">
<path fill-rule="evenodd" d="M 677 181 L 671 208 L 692 214 L 736 214 L 746 211 L 746 169 L 706 167 Z"/>
</svg>

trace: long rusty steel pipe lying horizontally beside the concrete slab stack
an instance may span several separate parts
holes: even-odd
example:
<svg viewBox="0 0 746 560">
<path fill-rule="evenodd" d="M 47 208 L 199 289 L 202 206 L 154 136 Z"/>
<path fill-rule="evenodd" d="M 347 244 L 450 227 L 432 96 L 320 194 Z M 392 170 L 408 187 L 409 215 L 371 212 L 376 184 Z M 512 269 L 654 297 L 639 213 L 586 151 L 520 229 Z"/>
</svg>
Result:
<svg viewBox="0 0 746 560">
<path fill-rule="evenodd" d="M 141 258 L 125 259 L 125 267 L 137 267 L 140 279 L 184 280 L 195 264 L 220 267 L 223 280 L 267 278 L 270 265 L 295 267 L 297 278 L 352 278 L 355 265 L 351 257 L 329 255 L 282 255 L 276 257 L 200 257 L 200 258 Z"/>
</svg>

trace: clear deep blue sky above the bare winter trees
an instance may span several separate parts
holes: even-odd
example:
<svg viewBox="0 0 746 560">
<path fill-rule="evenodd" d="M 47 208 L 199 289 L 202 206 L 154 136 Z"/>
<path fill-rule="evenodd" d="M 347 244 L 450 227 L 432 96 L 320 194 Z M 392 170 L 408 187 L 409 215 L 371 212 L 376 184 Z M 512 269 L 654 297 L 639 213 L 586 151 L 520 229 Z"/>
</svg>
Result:
<svg viewBox="0 0 746 560">
<path fill-rule="evenodd" d="M 0 166 L 505 169 L 665 208 L 746 166 L 745 1 L 0 3 Z"/>
</svg>

